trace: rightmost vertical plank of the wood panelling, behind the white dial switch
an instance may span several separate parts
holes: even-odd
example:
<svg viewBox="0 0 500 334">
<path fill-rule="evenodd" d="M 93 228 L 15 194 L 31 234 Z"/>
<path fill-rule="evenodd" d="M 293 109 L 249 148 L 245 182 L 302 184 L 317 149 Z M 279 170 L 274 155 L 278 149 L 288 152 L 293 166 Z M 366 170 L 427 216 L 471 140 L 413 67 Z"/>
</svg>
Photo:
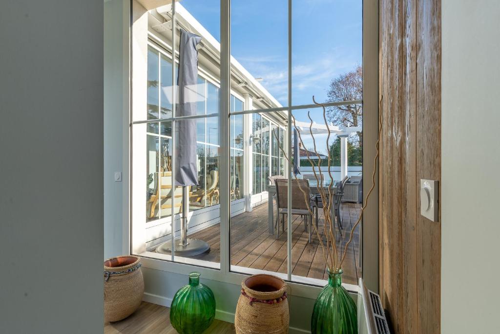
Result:
<svg viewBox="0 0 500 334">
<path fill-rule="evenodd" d="M 419 33 L 416 59 L 419 111 L 416 114 L 416 171 L 419 182 L 420 179 L 441 179 L 441 2 L 418 0 L 416 13 Z M 418 329 L 420 332 L 438 333 L 441 225 L 417 215 L 416 226 Z"/>
</svg>

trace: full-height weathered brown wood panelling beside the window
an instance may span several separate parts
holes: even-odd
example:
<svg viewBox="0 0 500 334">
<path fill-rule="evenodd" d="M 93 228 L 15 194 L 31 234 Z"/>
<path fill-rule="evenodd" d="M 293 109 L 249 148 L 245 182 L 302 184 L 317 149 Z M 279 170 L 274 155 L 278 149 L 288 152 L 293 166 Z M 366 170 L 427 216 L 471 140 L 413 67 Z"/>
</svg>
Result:
<svg viewBox="0 0 500 334">
<path fill-rule="evenodd" d="M 397 333 L 439 332 L 440 224 L 420 179 L 440 180 L 440 2 L 379 1 L 380 295 Z"/>
</svg>

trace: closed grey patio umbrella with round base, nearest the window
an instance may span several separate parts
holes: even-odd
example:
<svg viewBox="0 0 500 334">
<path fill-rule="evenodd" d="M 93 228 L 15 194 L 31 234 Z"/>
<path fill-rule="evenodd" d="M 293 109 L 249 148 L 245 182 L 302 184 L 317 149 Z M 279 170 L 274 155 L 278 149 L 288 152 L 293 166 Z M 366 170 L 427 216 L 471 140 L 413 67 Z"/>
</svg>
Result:
<svg viewBox="0 0 500 334">
<path fill-rule="evenodd" d="M 179 72 L 177 75 L 178 103 L 175 116 L 196 115 L 196 99 L 198 82 L 198 51 L 196 45 L 201 37 L 180 30 Z M 196 164 L 196 120 L 180 120 L 175 122 L 175 186 L 182 187 L 182 218 L 180 222 L 180 242 L 175 246 L 175 253 L 183 256 L 196 255 L 210 249 L 202 240 L 187 239 L 187 202 L 188 189 L 198 184 L 198 168 Z M 172 204 L 174 194 L 172 194 Z M 174 231 L 172 231 L 174 233 Z M 171 252 L 171 240 L 156 249 L 161 253 Z"/>
</svg>

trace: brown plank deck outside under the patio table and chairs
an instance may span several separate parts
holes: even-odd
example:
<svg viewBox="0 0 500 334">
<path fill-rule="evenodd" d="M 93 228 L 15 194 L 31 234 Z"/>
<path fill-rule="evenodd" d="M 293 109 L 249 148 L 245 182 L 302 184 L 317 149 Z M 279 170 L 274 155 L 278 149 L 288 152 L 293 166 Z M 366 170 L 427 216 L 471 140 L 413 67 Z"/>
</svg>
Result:
<svg viewBox="0 0 500 334">
<path fill-rule="evenodd" d="M 342 236 L 337 238 L 337 249 L 340 249 L 340 246 L 341 249 L 345 247 L 351 226 L 354 225 L 359 217 L 360 208 L 360 204 L 342 203 L 343 231 Z M 319 211 L 321 214 L 322 210 Z M 323 226 L 321 215 L 319 218 L 320 231 L 322 231 Z M 307 242 L 308 233 L 304 231 L 303 220 L 299 216 L 293 216 L 292 229 L 292 274 L 326 279 L 325 261 L 317 235 L 313 233 L 311 243 Z M 216 224 L 189 235 L 190 238 L 201 239 L 210 244 L 209 253 L 193 257 L 219 262 L 219 233 L 220 228 Z M 338 229 L 336 229 L 335 233 L 338 233 Z M 324 235 L 321 234 L 321 238 L 325 242 Z M 286 233 L 283 234 L 280 229 L 280 235 L 277 240 L 275 234 L 271 235 L 268 233 L 267 204 L 257 206 L 251 212 L 245 212 L 231 218 L 230 245 L 232 265 L 281 273 L 286 273 L 287 271 Z M 348 247 L 346 259 L 343 264 L 343 282 L 357 284 L 357 280 L 361 276 L 359 258 L 358 226 L 354 231 L 353 242 Z"/>
</svg>

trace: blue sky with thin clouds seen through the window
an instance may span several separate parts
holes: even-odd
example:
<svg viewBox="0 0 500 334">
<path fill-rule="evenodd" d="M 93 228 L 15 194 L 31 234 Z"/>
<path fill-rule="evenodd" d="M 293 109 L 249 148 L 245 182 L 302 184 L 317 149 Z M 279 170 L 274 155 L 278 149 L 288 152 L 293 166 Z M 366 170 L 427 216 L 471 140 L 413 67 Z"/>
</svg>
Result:
<svg viewBox="0 0 500 334">
<path fill-rule="evenodd" d="M 288 99 L 287 3 L 231 2 L 231 55 L 255 78 L 262 78 L 262 86 L 282 105 Z M 218 0 L 182 0 L 180 4 L 220 41 Z M 293 105 L 311 104 L 313 95 L 316 101 L 326 101 L 329 82 L 361 65 L 361 56 L 361 0 L 293 0 Z M 323 123 L 320 109 L 310 112 L 314 121 Z M 294 116 L 307 121 L 307 111 L 296 111 Z"/>
</svg>

